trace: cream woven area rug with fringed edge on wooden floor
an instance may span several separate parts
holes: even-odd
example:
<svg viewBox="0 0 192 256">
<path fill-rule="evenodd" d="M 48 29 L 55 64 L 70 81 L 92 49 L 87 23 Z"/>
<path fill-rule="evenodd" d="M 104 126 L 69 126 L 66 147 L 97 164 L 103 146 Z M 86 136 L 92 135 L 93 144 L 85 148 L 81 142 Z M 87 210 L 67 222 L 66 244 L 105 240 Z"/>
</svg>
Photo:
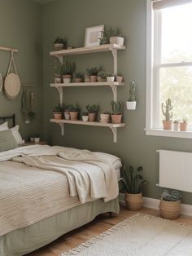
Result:
<svg viewBox="0 0 192 256">
<path fill-rule="evenodd" d="M 61 256 L 192 256 L 192 226 L 134 214 Z"/>
</svg>

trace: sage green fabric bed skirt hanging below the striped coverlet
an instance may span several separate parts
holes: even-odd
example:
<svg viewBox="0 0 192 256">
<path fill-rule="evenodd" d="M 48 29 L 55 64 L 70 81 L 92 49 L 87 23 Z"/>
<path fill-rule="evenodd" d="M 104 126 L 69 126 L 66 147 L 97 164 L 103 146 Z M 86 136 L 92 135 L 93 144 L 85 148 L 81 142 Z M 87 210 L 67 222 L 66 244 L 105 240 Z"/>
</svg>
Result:
<svg viewBox="0 0 192 256">
<path fill-rule="evenodd" d="M 20 228 L 0 236 L 1 256 L 21 256 L 55 241 L 59 236 L 92 221 L 98 214 L 119 214 L 118 199 L 104 202 L 103 199 L 76 206 L 55 214 L 31 226 Z"/>
</svg>

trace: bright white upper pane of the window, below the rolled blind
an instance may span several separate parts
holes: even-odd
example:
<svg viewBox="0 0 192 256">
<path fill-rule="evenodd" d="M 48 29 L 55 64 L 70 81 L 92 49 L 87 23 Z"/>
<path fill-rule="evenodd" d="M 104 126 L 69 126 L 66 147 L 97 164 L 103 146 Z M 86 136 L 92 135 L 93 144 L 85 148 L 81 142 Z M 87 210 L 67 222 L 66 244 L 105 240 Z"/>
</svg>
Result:
<svg viewBox="0 0 192 256">
<path fill-rule="evenodd" d="M 162 63 L 192 61 L 192 3 L 161 10 Z"/>
</svg>

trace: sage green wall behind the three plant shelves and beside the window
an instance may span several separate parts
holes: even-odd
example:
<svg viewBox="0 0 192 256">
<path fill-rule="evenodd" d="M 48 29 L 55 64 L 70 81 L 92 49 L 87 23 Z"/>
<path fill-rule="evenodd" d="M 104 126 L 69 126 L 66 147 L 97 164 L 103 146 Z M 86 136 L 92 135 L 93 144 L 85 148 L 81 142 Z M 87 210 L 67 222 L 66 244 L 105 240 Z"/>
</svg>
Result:
<svg viewBox="0 0 192 256">
<path fill-rule="evenodd" d="M 50 143 L 69 147 L 88 148 L 115 154 L 124 163 L 142 165 L 149 184 L 145 196 L 159 198 L 162 189 L 158 183 L 157 149 L 191 151 L 190 139 L 173 139 L 145 135 L 146 108 L 146 0 L 58 0 L 43 7 L 43 99 L 44 136 Z M 112 142 L 111 130 L 100 127 L 66 126 L 65 136 L 59 126 L 50 124 L 52 108 L 58 104 L 59 95 L 49 84 L 54 78 L 55 60 L 50 57 L 56 36 L 68 38 L 68 46 L 83 46 L 85 28 L 98 24 L 118 26 L 126 37 L 126 51 L 119 52 L 118 69 L 124 74 L 126 85 L 118 91 L 118 98 L 128 98 L 129 80 L 137 84 L 137 110 L 124 110 L 126 127 L 118 130 L 118 142 Z M 103 64 L 112 71 L 110 53 L 68 57 L 75 60 L 77 69 Z M 109 88 L 64 89 L 64 103 L 100 104 L 102 110 L 111 110 Z M 183 202 L 192 204 L 190 193 L 183 193 Z"/>
</svg>

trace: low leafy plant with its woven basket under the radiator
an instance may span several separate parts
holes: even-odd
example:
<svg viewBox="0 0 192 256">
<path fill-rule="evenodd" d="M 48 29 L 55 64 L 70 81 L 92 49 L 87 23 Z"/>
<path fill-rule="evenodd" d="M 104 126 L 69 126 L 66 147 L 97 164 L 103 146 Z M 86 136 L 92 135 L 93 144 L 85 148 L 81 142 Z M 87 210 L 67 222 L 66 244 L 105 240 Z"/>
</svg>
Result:
<svg viewBox="0 0 192 256">
<path fill-rule="evenodd" d="M 170 193 L 167 189 L 161 195 L 159 210 L 162 218 L 174 219 L 181 214 L 181 195 L 177 190 Z"/>
</svg>

